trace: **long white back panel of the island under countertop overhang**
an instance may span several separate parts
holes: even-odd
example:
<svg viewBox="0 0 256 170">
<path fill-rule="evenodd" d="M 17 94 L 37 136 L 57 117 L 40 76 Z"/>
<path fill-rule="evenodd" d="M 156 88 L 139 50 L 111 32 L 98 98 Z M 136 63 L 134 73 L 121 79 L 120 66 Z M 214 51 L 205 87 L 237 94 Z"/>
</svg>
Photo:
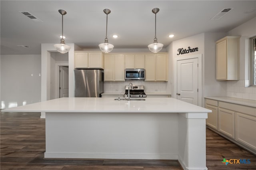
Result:
<svg viewBox="0 0 256 170">
<path fill-rule="evenodd" d="M 178 159 L 178 113 L 46 113 L 45 158 Z"/>
</svg>

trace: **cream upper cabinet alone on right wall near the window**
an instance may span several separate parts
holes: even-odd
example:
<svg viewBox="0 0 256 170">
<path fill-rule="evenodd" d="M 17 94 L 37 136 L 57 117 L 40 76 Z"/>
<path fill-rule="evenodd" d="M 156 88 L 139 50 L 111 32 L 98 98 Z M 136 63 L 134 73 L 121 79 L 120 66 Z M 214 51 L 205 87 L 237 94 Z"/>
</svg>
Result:
<svg viewBox="0 0 256 170">
<path fill-rule="evenodd" d="M 239 80 L 240 36 L 216 41 L 216 80 Z"/>
</svg>

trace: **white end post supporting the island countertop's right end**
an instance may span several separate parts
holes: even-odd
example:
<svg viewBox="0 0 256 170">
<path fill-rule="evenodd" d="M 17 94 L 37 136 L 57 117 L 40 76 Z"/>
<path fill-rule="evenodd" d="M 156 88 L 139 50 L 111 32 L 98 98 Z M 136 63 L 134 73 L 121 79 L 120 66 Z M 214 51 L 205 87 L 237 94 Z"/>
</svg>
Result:
<svg viewBox="0 0 256 170">
<path fill-rule="evenodd" d="M 206 170 L 207 113 L 179 114 L 179 162 L 184 170 Z"/>
</svg>

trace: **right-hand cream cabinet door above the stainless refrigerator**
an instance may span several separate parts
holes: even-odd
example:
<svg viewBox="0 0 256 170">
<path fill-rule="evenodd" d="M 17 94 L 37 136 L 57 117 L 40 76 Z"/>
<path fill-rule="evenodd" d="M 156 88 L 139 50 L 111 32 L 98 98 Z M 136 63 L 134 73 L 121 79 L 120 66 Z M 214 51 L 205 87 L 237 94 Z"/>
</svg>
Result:
<svg viewBox="0 0 256 170">
<path fill-rule="evenodd" d="M 89 68 L 104 68 L 103 55 L 101 52 L 88 53 Z"/>
</svg>

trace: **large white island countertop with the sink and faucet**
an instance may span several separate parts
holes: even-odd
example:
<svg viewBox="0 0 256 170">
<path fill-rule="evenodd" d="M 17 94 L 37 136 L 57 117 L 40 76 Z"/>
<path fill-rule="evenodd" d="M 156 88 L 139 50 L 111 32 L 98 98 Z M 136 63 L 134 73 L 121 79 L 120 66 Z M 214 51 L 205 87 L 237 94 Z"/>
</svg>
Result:
<svg viewBox="0 0 256 170">
<path fill-rule="evenodd" d="M 146 98 L 145 101 L 115 101 L 115 98 L 64 97 L 13 107 L 3 112 L 76 113 L 210 113 L 211 110 L 174 98 Z"/>
</svg>

